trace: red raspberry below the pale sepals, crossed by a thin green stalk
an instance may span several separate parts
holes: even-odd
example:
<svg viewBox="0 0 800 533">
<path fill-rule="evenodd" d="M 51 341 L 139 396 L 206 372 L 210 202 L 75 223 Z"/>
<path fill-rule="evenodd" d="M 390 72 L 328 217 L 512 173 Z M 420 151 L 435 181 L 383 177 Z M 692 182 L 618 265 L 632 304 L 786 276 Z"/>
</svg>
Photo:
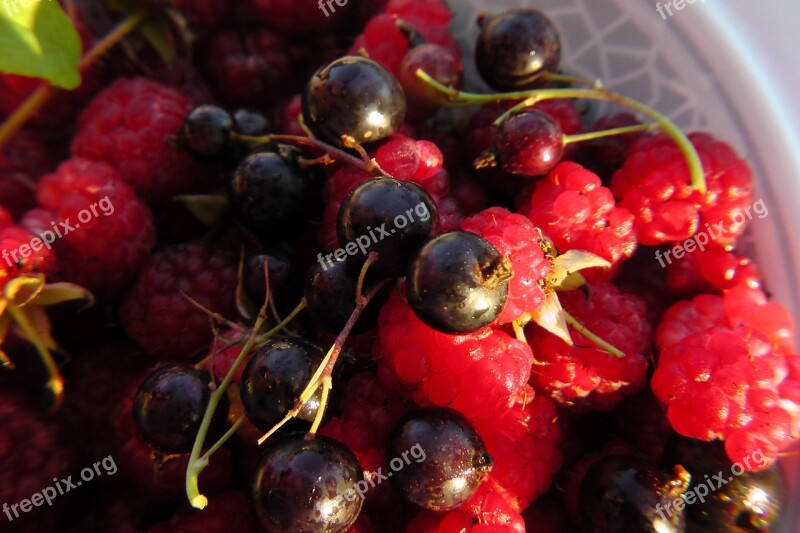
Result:
<svg viewBox="0 0 800 533">
<path fill-rule="evenodd" d="M 566 291 L 559 298 L 566 311 L 625 356 L 602 351 L 572 329 L 574 346 L 543 329 L 530 329 L 537 359 L 533 386 L 558 404 L 579 411 L 612 409 L 645 383 L 650 324 L 644 302 L 607 282 L 590 283 L 588 297 L 583 291 Z"/>
</svg>

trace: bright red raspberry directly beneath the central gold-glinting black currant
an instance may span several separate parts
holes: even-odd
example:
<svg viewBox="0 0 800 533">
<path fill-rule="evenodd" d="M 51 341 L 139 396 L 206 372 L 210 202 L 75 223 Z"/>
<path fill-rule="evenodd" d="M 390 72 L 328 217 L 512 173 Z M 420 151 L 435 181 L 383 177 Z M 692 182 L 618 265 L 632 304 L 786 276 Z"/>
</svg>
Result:
<svg viewBox="0 0 800 533">
<path fill-rule="evenodd" d="M 375 358 L 381 382 L 400 387 L 419 405 L 449 407 L 467 418 L 491 416 L 522 390 L 533 355 L 500 330 L 468 335 L 438 332 L 393 293 L 378 319 Z"/>
</svg>

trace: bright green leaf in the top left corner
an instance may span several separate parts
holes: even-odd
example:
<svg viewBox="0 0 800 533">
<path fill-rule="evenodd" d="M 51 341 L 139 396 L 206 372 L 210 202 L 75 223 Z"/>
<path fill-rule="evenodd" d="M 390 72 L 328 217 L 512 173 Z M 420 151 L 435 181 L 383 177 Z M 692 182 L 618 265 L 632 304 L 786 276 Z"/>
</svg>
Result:
<svg viewBox="0 0 800 533">
<path fill-rule="evenodd" d="M 0 72 L 81 83 L 81 40 L 57 0 L 0 0 Z"/>
</svg>

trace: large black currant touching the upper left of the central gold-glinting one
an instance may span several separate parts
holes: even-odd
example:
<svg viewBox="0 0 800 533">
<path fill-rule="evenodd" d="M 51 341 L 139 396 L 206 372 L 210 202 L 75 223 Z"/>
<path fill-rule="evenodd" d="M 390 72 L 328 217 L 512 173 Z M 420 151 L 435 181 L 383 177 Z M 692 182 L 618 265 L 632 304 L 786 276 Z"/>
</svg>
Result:
<svg viewBox="0 0 800 533">
<path fill-rule="evenodd" d="M 364 262 L 370 252 L 379 258 L 376 274 L 400 276 L 411 256 L 428 239 L 436 223 L 436 204 L 422 187 L 391 178 L 367 180 L 350 191 L 339 208 L 336 230 L 340 257 Z"/>
</svg>

